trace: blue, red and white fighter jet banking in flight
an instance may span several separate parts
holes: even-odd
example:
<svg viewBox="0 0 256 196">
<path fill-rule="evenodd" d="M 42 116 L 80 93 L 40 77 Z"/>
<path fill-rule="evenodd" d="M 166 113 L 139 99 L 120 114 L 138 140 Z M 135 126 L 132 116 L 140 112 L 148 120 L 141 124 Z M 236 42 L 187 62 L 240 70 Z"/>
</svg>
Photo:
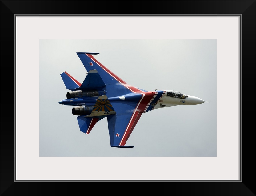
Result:
<svg viewBox="0 0 256 196">
<path fill-rule="evenodd" d="M 107 117 L 110 146 L 132 148 L 126 142 L 142 113 L 176 105 L 196 105 L 205 101 L 174 90 L 146 91 L 128 85 L 92 55 L 99 53 L 77 52 L 87 71 L 83 83 L 67 72 L 61 75 L 67 89 L 62 105 L 75 106 L 80 131 L 89 134 L 93 126 Z"/>
</svg>

